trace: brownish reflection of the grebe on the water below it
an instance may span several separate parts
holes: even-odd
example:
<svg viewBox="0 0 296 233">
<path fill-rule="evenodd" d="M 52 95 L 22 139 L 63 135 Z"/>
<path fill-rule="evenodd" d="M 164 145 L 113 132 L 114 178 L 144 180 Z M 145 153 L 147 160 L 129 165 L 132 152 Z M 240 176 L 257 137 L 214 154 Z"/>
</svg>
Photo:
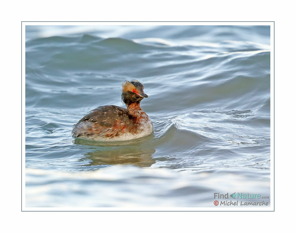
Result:
<svg viewBox="0 0 296 233">
<path fill-rule="evenodd" d="M 150 138 L 151 137 L 151 138 Z M 144 139 L 137 139 L 129 142 L 96 142 L 91 140 L 76 138 L 74 143 L 79 145 L 90 146 L 87 149 L 95 151 L 87 152 L 83 160 L 91 160 L 90 165 L 115 165 L 115 164 L 132 164 L 141 167 L 150 167 L 156 162 L 152 158 L 155 148 L 149 143 L 153 135 Z M 128 144 L 127 144 L 128 143 Z"/>
</svg>

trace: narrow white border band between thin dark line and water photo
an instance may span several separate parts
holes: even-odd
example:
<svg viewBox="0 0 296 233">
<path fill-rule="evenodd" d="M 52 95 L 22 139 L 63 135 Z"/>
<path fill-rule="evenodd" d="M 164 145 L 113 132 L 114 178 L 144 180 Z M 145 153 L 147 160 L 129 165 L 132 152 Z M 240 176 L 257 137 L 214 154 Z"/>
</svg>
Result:
<svg viewBox="0 0 296 233">
<path fill-rule="evenodd" d="M 26 25 L 267 25 L 270 26 L 270 207 L 174 207 L 174 208 L 61 208 L 25 207 L 25 26 Z M 274 211 L 274 22 L 22 22 L 22 211 Z"/>
</svg>

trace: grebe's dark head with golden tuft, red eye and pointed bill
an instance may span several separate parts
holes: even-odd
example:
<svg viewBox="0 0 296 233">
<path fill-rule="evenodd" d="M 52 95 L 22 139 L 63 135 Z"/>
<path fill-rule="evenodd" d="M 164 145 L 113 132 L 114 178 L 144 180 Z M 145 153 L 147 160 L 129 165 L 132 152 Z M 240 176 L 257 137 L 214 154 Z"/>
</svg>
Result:
<svg viewBox="0 0 296 233">
<path fill-rule="evenodd" d="M 124 81 L 122 83 L 122 94 L 121 100 L 125 105 L 130 105 L 132 103 L 140 104 L 140 101 L 148 97 L 144 93 L 144 86 L 142 83 L 133 79 L 132 81 Z"/>
</svg>

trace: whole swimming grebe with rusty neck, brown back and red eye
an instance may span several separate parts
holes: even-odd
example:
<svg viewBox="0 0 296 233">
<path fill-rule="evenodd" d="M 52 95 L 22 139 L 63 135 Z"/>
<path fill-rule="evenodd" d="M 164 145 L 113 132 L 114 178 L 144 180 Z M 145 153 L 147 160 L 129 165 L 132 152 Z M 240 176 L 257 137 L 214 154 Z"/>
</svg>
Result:
<svg viewBox="0 0 296 233">
<path fill-rule="evenodd" d="M 139 81 L 122 83 L 121 100 L 127 108 L 106 105 L 90 111 L 72 130 L 74 137 L 96 141 L 125 141 L 153 133 L 148 115 L 140 108 L 144 86 Z"/>
</svg>

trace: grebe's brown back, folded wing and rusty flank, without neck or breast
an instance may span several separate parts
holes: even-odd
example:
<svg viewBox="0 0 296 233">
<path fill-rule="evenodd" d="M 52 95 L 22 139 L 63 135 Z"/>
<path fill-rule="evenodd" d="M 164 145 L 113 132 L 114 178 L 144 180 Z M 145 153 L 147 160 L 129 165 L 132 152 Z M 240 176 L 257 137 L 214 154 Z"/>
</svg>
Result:
<svg viewBox="0 0 296 233">
<path fill-rule="evenodd" d="M 115 105 L 100 106 L 79 120 L 73 128 L 72 134 L 75 137 L 112 138 L 126 132 L 131 123 L 131 116 L 126 108 Z"/>
</svg>

